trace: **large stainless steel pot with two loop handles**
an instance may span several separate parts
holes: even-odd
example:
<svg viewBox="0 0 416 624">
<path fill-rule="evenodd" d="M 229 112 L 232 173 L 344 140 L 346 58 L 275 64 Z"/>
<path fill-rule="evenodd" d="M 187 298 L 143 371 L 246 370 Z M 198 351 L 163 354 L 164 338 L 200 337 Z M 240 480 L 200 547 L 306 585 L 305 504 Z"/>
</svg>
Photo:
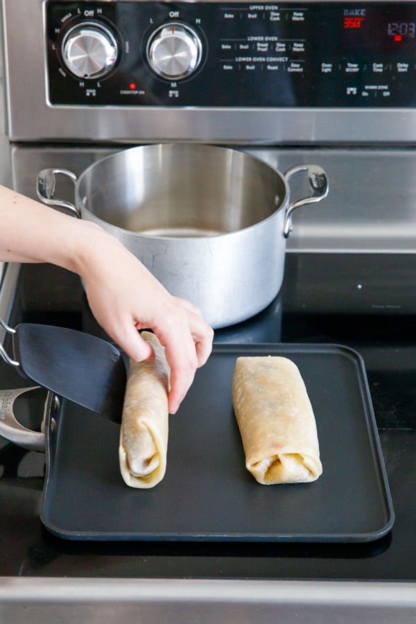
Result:
<svg viewBox="0 0 416 624">
<path fill-rule="evenodd" d="M 297 171 L 307 172 L 312 194 L 290 204 L 288 180 Z M 56 173 L 75 183 L 75 206 L 54 198 Z M 327 192 L 319 166 L 282 175 L 243 151 L 182 143 L 122 150 L 78 178 L 45 169 L 37 181 L 44 203 L 116 236 L 214 328 L 250 318 L 276 297 L 293 211 Z"/>
</svg>

